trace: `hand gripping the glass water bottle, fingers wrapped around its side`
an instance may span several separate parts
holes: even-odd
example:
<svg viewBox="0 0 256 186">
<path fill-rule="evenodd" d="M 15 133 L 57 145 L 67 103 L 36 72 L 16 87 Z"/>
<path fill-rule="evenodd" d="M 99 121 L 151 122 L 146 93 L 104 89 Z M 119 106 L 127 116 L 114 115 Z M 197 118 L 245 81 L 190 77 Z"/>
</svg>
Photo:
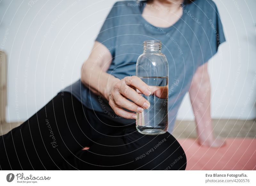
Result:
<svg viewBox="0 0 256 186">
<path fill-rule="evenodd" d="M 137 76 L 127 76 L 115 82 L 108 89 L 107 99 L 109 105 L 117 115 L 127 119 L 136 119 L 136 113 L 134 112 L 141 113 L 143 109 L 150 107 L 147 99 L 142 97 L 135 89 L 138 89 L 146 96 L 151 95 L 148 85 Z M 132 112 L 125 111 L 124 108 Z"/>
</svg>

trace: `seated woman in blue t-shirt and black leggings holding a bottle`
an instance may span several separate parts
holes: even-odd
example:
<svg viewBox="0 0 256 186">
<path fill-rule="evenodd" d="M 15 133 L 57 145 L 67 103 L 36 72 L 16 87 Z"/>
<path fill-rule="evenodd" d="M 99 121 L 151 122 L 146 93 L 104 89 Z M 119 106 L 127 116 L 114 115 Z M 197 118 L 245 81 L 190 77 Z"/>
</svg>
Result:
<svg viewBox="0 0 256 186">
<path fill-rule="evenodd" d="M 134 76 L 146 40 L 162 41 L 168 59 L 170 131 L 188 90 L 194 111 L 202 97 L 210 103 L 206 62 L 225 41 L 216 5 L 117 2 L 84 62 L 81 80 L 1 138 L 1 169 L 185 170 L 185 153 L 169 132 L 150 136 L 135 128 L 135 112 L 150 105 L 134 88 L 152 93 Z M 200 142 L 221 145 L 211 123 L 206 125 L 208 105 L 195 117 Z"/>
</svg>

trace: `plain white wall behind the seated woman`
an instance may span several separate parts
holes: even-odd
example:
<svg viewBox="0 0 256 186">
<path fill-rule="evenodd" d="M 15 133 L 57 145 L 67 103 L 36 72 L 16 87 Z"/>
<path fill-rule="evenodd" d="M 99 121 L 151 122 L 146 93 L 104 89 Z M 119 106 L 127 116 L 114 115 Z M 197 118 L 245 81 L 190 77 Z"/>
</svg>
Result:
<svg viewBox="0 0 256 186">
<path fill-rule="evenodd" d="M 32 7 L 28 2 L 0 3 L 0 47 L 9 64 L 7 119 L 16 122 L 26 120 L 79 78 L 115 0 L 38 0 Z M 256 117 L 256 2 L 215 2 L 227 42 L 209 64 L 212 116 L 252 119 Z M 193 119 L 188 96 L 178 119 Z"/>
</svg>

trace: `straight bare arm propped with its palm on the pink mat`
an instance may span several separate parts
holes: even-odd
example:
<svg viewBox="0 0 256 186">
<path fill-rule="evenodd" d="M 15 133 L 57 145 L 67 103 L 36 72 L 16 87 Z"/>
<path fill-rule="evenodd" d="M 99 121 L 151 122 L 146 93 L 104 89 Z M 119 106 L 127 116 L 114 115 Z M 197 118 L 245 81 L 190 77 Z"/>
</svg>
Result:
<svg viewBox="0 0 256 186">
<path fill-rule="evenodd" d="M 199 143 L 212 147 L 223 145 L 224 141 L 216 139 L 213 135 L 210 110 L 211 86 L 207 63 L 199 66 L 196 70 L 189 90 L 189 96 L 195 115 Z"/>
</svg>

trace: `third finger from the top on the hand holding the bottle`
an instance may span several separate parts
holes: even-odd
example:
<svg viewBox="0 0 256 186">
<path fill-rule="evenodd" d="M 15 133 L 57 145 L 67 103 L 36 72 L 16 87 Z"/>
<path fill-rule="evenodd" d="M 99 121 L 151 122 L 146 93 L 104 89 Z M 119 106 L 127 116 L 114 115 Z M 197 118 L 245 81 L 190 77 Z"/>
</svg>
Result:
<svg viewBox="0 0 256 186">
<path fill-rule="evenodd" d="M 132 112 L 143 112 L 143 108 L 138 106 L 137 104 L 125 99 L 121 94 L 116 94 L 115 97 L 113 97 L 114 103 L 116 106 L 128 109 Z"/>
</svg>

